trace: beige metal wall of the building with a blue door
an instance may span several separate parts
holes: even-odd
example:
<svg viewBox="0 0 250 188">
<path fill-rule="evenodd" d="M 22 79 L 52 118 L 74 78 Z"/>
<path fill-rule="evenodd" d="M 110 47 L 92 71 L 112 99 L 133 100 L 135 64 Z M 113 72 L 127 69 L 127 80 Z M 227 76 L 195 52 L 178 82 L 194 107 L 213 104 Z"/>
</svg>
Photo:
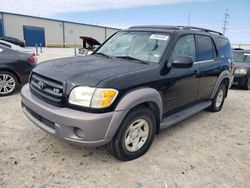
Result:
<svg viewBox="0 0 250 188">
<path fill-rule="evenodd" d="M 23 26 L 42 27 L 45 30 L 45 42 L 49 46 L 65 46 L 66 44 L 81 44 L 80 36 L 89 36 L 103 42 L 118 29 L 53 20 L 12 13 L 1 13 L 5 36 L 24 40 Z M 67 45 L 66 45 L 67 46 Z"/>
</svg>

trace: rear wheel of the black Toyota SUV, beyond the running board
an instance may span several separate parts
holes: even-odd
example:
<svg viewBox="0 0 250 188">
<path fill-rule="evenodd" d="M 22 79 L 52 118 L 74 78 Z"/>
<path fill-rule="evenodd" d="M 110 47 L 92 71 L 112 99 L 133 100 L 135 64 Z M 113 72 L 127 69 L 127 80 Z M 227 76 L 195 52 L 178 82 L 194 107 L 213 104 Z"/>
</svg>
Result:
<svg viewBox="0 0 250 188">
<path fill-rule="evenodd" d="M 222 83 L 218 91 L 216 92 L 215 97 L 212 100 L 212 105 L 209 107 L 209 111 L 211 112 L 221 111 L 225 101 L 226 93 L 227 93 L 226 85 Z"/>
</svg>

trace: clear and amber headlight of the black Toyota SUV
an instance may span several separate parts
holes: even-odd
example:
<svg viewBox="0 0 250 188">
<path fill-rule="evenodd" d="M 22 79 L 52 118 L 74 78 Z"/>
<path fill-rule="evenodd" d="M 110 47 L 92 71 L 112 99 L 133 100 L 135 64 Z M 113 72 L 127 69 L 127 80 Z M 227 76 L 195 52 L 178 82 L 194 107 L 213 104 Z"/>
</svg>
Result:
<svg viewBox="0 0 250 188">
<path fill-rule="evenodd" d="M 69 103 L 90 108 L 106 108 L 114 102 L 117 94 L 115 89 L 78 86 L 71 90 Z"/>
</svg>

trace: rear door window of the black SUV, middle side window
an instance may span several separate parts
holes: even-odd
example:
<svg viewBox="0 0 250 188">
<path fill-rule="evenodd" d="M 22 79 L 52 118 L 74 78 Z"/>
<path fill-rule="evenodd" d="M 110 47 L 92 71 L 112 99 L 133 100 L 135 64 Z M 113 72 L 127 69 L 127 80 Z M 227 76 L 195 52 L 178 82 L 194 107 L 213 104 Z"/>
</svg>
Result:
<svg viewBox="0 0 250 188">
<path fill-rule="evenodd" d="M 198 41 L 198 59 L 205 61 L 214 59 L 215 49 L 212 39 L 208 36 L 197 36 Z"/>
</svg>

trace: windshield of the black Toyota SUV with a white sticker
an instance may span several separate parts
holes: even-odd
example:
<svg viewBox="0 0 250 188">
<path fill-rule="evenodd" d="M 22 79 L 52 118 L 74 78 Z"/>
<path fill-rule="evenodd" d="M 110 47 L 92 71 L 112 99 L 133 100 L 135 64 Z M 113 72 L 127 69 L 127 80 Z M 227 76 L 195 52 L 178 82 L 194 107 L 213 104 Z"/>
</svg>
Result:
<svg viewBox="0 0 250 188">
<path fill-rule="evenodd" d="M 167 46 L 169 36 L 153 32 L 118 32 L 109 39 L 96 54 L 159 63 Z"/>
</svg>

